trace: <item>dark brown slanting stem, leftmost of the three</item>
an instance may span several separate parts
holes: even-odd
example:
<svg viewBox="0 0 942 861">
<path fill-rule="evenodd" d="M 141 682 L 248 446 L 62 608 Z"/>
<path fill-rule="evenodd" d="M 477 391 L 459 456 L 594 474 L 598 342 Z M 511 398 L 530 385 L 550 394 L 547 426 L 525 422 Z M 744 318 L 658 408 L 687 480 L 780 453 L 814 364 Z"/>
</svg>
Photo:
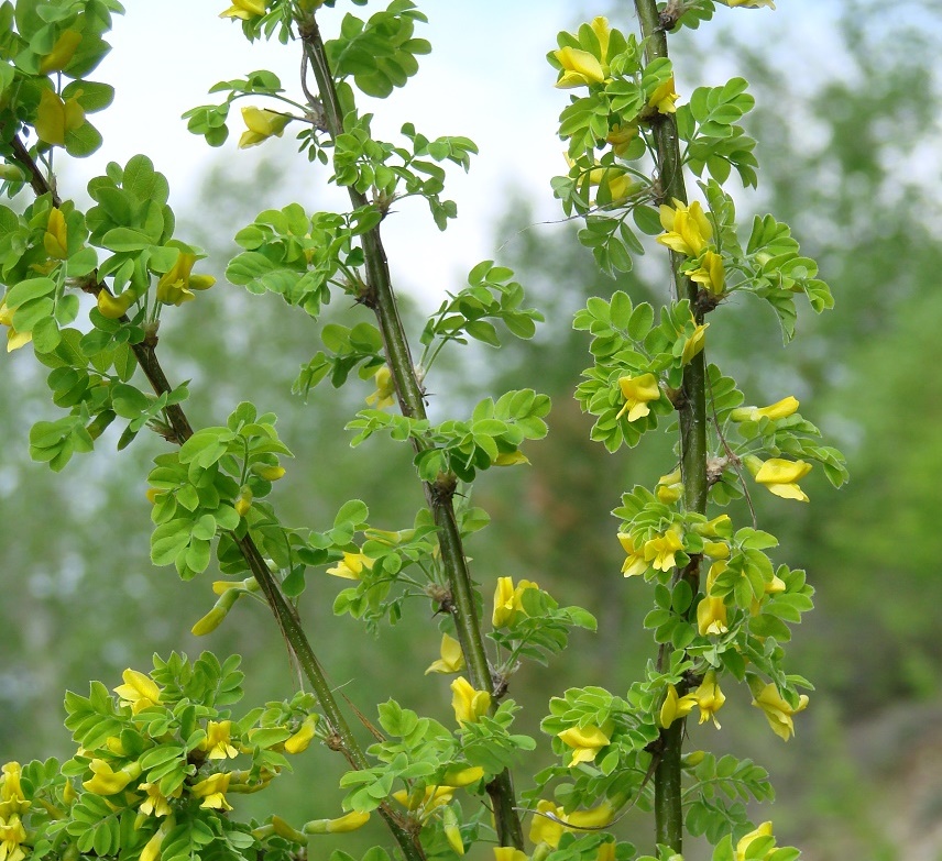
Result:
<svg viewBox="0 0 942 861">
<path fill-rule="evenodd" d="M 19 136 L 13 137 L 12 148 L 17 161 L 20 162 L 20 164 L 29 172 L 30 185 L 36 195 L 48 194 L 52 196 L 53 203 L 57 207 L 61 206 L 62 200 L 55 194 L 51 184 L 47 181 L 39 165 L 35 163 L 35 159 L 30 155 L 29 150 Z M 107 287 L 101 283 L 96 283 L 87 289 L 97 295 L 100 290 L 107 289 Z M 127 317 L 121 317 L 120 322 L 129 323 L 130 320 Z M 154 389 L 154 393 L 163 395 L 165 393 L 169 393 L 172 390 L 172 386 L 167 380 L 160 361 L 157 360 L 155 350 L 156 343 L 156 336 L 152 335 L 150 338 L 145 338 L 141 343 L 133 344 L 131 350 L 134 353 L 138 364 L 144 372 L 144 376 L 146 376 L 147 382 Z M 173 434 L 167 434 L 168 438 L 171 438 L 171 441 L 175 442 L 177 445 L 183 445 L 190 437 L 193 437 L 194 433 L 189 419 L 187 419 L 186 413 L 178 404 L 167 406 L 165 412 L 173 430 Z M 324 672 L 324 667 L 317 660 L 314 649 L 310 645 L 310 641 L 304 632 L 300 619 L 298 618 L 294 607 L 288 604 L 284 593 L 282 592 L 281 585 L 269 570 L 269 565 L 259 550 L 258 544 L 248 531 L 241 538 L 233 533 L 233 539 L 239 551 L 242 553 L 242 558 L 249 565 L 249 570 L 259 583 L 262 594 L 265 596 L 289 652 L 297 659 L 298 664 L 310 682 L 318 705 L 324 710 L 330 733 L 333 737 L 333 743 L 328 743 L 328 747 L 343 753 L 352 768 L 369 768 L 369 761 L 363 753 L 363 749 L 340 710 L 337 698 L 333 696 L 330 683 Z M 386 805 L 379 808 L 379 814 L 383 819 L 385 819 L 393 837 L 402 847 L 406 861 L 425 861 L 425 852 L 423 851 L 421 846 L 418 843 L 417 839 L 414 839 L 409 834 L 405 824 L 402 821 L 402 817 L 386 807 Z"/>
</svg>

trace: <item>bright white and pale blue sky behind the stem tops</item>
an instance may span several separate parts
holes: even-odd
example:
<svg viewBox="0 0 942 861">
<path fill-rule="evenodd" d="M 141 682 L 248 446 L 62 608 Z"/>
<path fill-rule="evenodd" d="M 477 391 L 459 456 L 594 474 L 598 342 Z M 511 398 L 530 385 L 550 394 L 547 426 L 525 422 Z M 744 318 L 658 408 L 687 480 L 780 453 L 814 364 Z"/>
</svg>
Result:
<svg viewBox="0 0 942 861">
<path fill-rule="evenodd" d="M 125 0 L 127 14 L 116 19 L 110 40 L 113 51 L 92 76 L 117 90 L 113 106 L 92 118 L 105 136 L 105 146 L 67 168 L 62 180 L 65 185 L 61 186 L 66 197 L 81 199 L 79 188 L 103 173 L 108 162 L 123 164 L 143 152 L 167 175 L 171 203 L 178 214 L 193 214 L 201 177 L 211 165 L 223 165 L 232 181 L 240 181 L 251 177 L 259 159 L 265 157 L 284 161 L 296 177 L 292 185 L 305 207 L 346 207 L 346 196 L 336 189 L 326 190 L 326 176 L 317 175 L 303 156 L 295 155 L 289 131 L 285 140 L 240 151 L 237 141 L 243 126 L 236 110 L 230 114 L 230 139 L 218 150 L 187 132 L 186 121 L 180 119 L 184 111 L 217 98 L 207 95 L 217 81 L 244 77 L 254 69 L 275 71 L 288 95 L 303 100 L 297 85 L 297 46 L 283 46 L 277 40 L 248 43 L 238 22 L 219 18 L 227 5 L 226 0 Z M 431 55 L 420 57 L 419 74 L 388 99 L 361 99 L 361 110 L 375 113 L 374 133 L 384 140 L 398 142 L 399 126 L 410 121 L 429 137 L 464 135 L 480 148 L 469 175 L 458 167 L 450 170 L 446 197 L 457 201 L 459 217 L 445 234 L 418 200 L 397 205 L 384 224 L 394 277 L 428 301 L 440 296 L 443 288 L 459 285 L 478 261 L 493 257 L 502 240 L 513 241 L 512 236 L 495 241 L 493 224 L 515 194 L 533 201 L 538 220 L 561 218 L 549 181 L 566 170 L 556 123 L 568 97 L 554 88 L 556 73 L 545 55 L 556 47 L 558 31 L 576 29 L 607 3 L 600 2 L 585 16 L 580 15 L 583 5 L 592 9 L 594 4 L 571 0 L 425 0 L 419 8 L 429 24 L 420 25 L 417 35 L 432 43 Z M 746 37 L 751 29 L 774 23 L 791 33 L 790 37 L 806 40 L 813 35 L 813 21 L 825 5 L 831 4 L 784 0 L 778 12 L 720 9 L 718 18 L 732 19 Z M 336 32 L 346 12 L 363 16 L 379 4 L 371 3 L 364 10 L 339 0 L 337 7 L 318 13 L 325 37 Z M 633 19 L 620 21 L 614 15 L 611 23 L 626 32 L 635 26 Z M 703 30 L 687 31 L 682 37 L 702 35 Z M 263 100 L 239 102 L 247 103 L 264 107 Z M 198 217 L 224 218 L 224 213 Z"/>
</svg>

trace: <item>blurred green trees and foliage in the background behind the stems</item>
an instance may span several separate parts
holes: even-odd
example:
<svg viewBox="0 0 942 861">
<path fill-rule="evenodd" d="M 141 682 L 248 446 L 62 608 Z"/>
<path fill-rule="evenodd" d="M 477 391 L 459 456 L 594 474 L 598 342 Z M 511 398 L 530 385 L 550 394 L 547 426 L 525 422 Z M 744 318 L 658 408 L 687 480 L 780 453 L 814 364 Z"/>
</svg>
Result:
<svg viewBox="0 0 942 861">
<path fill-rule="evenodd" d="M 771 736 L 743 689 L 729 692 L 723 731 L 691 727 L 691 744 L 745 752 L 768 766 L 779 801 L 757 820 L 774 816 L 780 842 L 801 846 L 812 861 L 932 861 L 942 858 L 942 12 L 930 3 L 842 9 L 826 55 L 774 21 L 748 44 L 722 22 L 675 43 L 681 92 L 686 81 L 724 79 L 733 68 L 752 82 L 758 107 L 747 129 L 759 141 L 762 199 L 743 196 L 741 216 L 773 211 L 790 223 L 837 301 L 831 313 L 802 318 L 788 351 L 770 312 L 721 309 L 711 320 L 710 360 L 737 377 L 747 402 L 797 395 L 852 467 L 841 493 L 812 474 L 807 507 L 754 499 L 760 526 L 781 539 L 781 561 L 807 567 L 818 590 L 818 610 L 791 653 L 792 669 L 818 685 L 797 738 L 786 747 Z M 621 20 L 627 10 L 612 14 Z M 178 210 L 178 234 L 209 250 L 221 276 L 220 262 L 236 253 L 232 234 L 259 210 L 294 199 L 292 172 L 300 169 L 263 164 L 237 178 L 220 162 L 188 210 Z M 500 353 L 452 352 L 428 386 L 438 415 L 463 415 L 511 387 L 554 398 L 550 434 L 527 451 L 533 465 L 479 481 L 473 501 L 493 522 L 469 545 L 488 603 L 495 577 L 510 575 L 536 579 L 599 617 L 598 634 L 576 636 L 549 669 L 526 666 L 514 677 L 511 696 L 528 706 L 523 727 L 538 735 L 549 696 L 574 684 L 621 693 L 651 656 L 640 628 L 650 595 L 620 576 L 609 512 L 622 492 L 669 471 L 672 440 L 646 439 L 615 456 L 590 443 L 591 422 L 571 397 L 589 364 L 587 345 L 569 322 L 587 296 L 616 287 L 662 300 L 667 278 L 654 256 L 617 284 L 601 276 L 574 225 L 535 223 L 525 200 L 512 189 L 507 197 L 493 231 L 495 256 L 517 272 L 549 322 L 534 342 Z M 407 296 L 404 305 L 417 334 L 421 320 Z M 353 324 L 361 313 L 335 300 L 319 324 Z M 273 497 L 286 523 L 322 529 L 354 497 L 368 503 L 376 527 L 412 523 L 423 499 L 406 448 L 375 438 L 358 451 L 348 445 L 343 426 L 372 385 L 353 382 L 338 393 L 324 384 L 307 402 L 291 395 L 299 365 L 318 349 L 308 318 L 224 284 L 165 318 L 161 355 L 172 380 L 193 379 L 187 409 L 196 427 L 223 423 L 244 399 L 281 417 L 282 438 L 297 455 Z M 240 652 L 247 708 L 289 695 L 291 667 L 264 607 L 241 604 L 222 629 L 197 641 L 189 628 L 215 599 L 212 577 L 182 584 L 173 571 L 151 569 L 144 479 L 161 439 L 142 434 L 116 456 L 114 439 L 106 438 L 63 475 L 29 462 L 29 427 L 55 408 L 28 352 L 3 360 L 0 387 L 0 761 L 68 755 L 65 688 L 84 691 L 90 678 L 113 686 L 125 666 L 149 669 L 155 651 Z M 376 641 L 349 618 L 333 618 L 341 586 L 314 572 L 302 598 L 333 682 L 368 717 L 373 702 L 395 696 L 450 720 L 448 680 L 423 676 L 438 650 L 430 605 L 407 605 L 397 628 Z M 247 809 L 276 809 L 295 821 L 337 815 L 339 795 L 327 788 L 340 774 L 337 759 L 309 751 L 294 777 L 250 796 Z M 648 846 L 644 817 L 620 828 Z"/>
</svg>

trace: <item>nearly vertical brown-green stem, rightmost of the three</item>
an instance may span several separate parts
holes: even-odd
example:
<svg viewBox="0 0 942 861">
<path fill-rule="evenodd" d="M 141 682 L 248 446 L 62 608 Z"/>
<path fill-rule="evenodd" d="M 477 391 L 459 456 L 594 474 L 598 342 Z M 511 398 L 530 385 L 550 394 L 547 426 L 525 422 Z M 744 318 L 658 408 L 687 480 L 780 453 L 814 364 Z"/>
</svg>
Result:
<svg viewBox="0 0 942 861">
<path fill-rule="evenodd" d="M 667 33 L 655 0 L 635 0 L 635 10 L 642 25 L 645 41 L 645 59 L 650 63 L 658 57 L 667 57 Z M 677 135 L 677 121 L 673 114 L 658 114 L 653 125 L 657 147 L 657 172 L 665 202 L 677 199 L 687 202 L 687 188 L 683 183 L 683 169 L 680 158 L 680 145 Z M 697 308 L 697 285 L 680 273 L 683 256 L 670 252 L 671 287 L 675 301 L 689 299 L 690 307 Z M 701 323 L 702 312 L 695 310 L 697 322 Z M 683 383 L 677 409 L 680 423 L 680 472 L 683 482 L 683 501 L 688 511 L 706 512 L 706 362 L 701 352 L 683 368 Z M 694 556 L 682 571 L 676 572 L 677 578 L 687 579 L 693 594 L 700 585 L 700 558 Z M 691 608 L 691 617 L 695 610 Z M 691 618 L 693 621 L 694 618 Z M 666 660 L 668 651 L 661 653 Z M 683 688 L 683 689 L 681 689 Z M 687 693 L 684 686 L 678 686 L 678 695 Z M 655 819 L 657 842 L 669 846 L 675 852 L 683 849 L 683 810 L 681 807 L 681 769 L 684 720 L 676 720 L 661 730 L 661 751 L 655 771 Z"/>
</svg>

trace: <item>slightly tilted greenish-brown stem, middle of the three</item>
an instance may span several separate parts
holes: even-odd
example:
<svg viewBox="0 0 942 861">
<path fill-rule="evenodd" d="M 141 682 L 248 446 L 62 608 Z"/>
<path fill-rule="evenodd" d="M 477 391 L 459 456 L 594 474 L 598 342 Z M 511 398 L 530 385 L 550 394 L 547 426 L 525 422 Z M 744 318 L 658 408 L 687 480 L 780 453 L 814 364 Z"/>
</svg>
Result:
<svg viewBox="0 0 942 861">
<path fill-rule="evenodd" d="M 327 62 L 320 30 L 311 14 L 299 22 L 299 32 L 304 44 L 307 63 L 310 64 L 320 93 L 321 108 L 327 129 L 332 137 L 343 130 L 343 114 L 333 82 L 333 75 Z M 350 202 L 358 209 L 370 203 L 365 195 L 352 186 L 349 187 Z M 415 366 L 409 350 L 408 339 L 399 319 L 398 303 L 390 278 L 390 267 L 379 225 L 362 236 L 363 254 L 366 269 L 366 295 L 361 297 L 376 314 L 380 332 L 386 351 L 386 361 L 392 372 L 396 387 L 399 408 L 404 416 L 426 418 L 425 399 L 421 384 L 416 376 Z M 416 452 L 429 448 L 430 443 L 414 440 Z M 484 638 L 474 608 L 474 589 L 468 561 L 462 547 L 461 534 L 454 516 L 452 504 L 453 478 L 442 477 L 435 483 L 424 483 L 425 497 L 438 527 L 438 540 L 441 550 L 441 561 L 448 574 L 450 600 L 446 607 L 454 619 L 458 641 L 464 653 L 468 675 L 471 684 L 478 691 L 493 691 L 491 667 L 484 649 Z M 508 771 L 497 775 L 488 786 L 494 806 L 494 819 L 497 829 L 497 840 L 501 846 L 524 848 L 523 828 L 516 813 L 514 787 Z"/>
</svg>

